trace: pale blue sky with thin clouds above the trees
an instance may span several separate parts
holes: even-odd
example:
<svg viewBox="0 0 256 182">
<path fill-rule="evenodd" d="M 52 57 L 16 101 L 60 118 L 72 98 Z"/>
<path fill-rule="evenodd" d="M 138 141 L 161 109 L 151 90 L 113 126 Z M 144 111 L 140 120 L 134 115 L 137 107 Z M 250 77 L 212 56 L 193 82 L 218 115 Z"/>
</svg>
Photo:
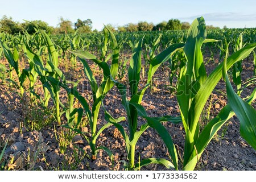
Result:
<svg viewBox="0 0 256 182">
<path fill-rule="evenodd" d="M 0 18 L 7 15 L 19 22 L 41 19 L 53 27 L 60 16 L 72 22 L 89 18 L 93 28 L 101 30 L 108 23 L 116 27 L 144 20 L 156 24 L 171 18 L 191 23 L 196 17 L 204 16 L 208 25 L 243 28 L 256 27 L 255 7 L 255 0 L 1 0 Z"/>
</svg>

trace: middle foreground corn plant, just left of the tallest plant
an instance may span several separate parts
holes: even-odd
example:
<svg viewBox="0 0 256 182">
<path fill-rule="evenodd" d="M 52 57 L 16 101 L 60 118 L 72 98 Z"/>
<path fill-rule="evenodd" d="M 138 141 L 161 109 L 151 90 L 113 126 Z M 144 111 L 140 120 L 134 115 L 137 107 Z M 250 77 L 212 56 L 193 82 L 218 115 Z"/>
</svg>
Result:
<svg viewBox="0 0 256 182">
<path fill-rule="evenodd" d="M 138 142 L 139 137 L 141 137 L 142 133 L 148 129 L 148 124 L 145 123 L 141 126 L 141 128 L 138 128 L 138 115 L 143 116 L 144 118 L 147 118 L 146 111 L 143 109 L 143 107 L 140 105 L 143 95 L 150 85 L 152 76 L 156 72 L 156 70 L 159 68 L 159 66 L 167 61 L 172 53 L 176 52 L 180 48 L 184 46 L 184 44 L 176 44 L 173 46 L 168 47 L 165 51 L 159 53 L 158 56 L 155 56 L 154 59 L 150 63 L 150 69 L 148 72 L 148 79 L 147 84 L 144 86 L 144 88 L 139 91 L 138 85 L 140 80 L 140 72 L 141 72 L 141 53 L 142 53 L 142 41 L 139 40 L 139 42 L 135 45 L 134 51 L 133 51 L 133 57 L 130 60 L 130 67 L 128 71 L 129 76 L 129 85 L 130 85 L 130 92 L 131 92 L 131 99 L 128 100 L 127 98 L 127 88 L 125 85 L 119 83 L 118 81 L 115 81 L 115 85 L 117 86 L 121 96 L 122 96 L 122 105 L 125 108 L 126 114 L 127 114 L 127 120 L 128 120 L 128 126 L 129 126 L 129 134 L 126 133 L 125 129 L 121 124 L 118 123 L 106 110 L 105 110 L 105 119 L 109 123 L 112 123 L 122 134 L 122 137 L 125 139 L 126 143 L 126 152 L 127 152 L 127 158 L 128 163 L 125 163 L 125 166 L 129 170 L 137 170 L 139 167 L 146 166 L 151 163 L 157 163 L 157 164 L 163 164 L 167 168 L 172 167 L 172 164 L 168 162 L 166 159 L 155 159 L 155 158 L 149 158 L 149 159 L 143 159 L 138 164 L 134 163 L 135 160 L 135 146 Z M 98 64 L 100 67 L 104 68 L 104 64 Z M 110 73 L 108 73 L 109 76 Z M 112 77 L 113 79 L 113 77 Z M 155 118 L 156 121 L 172 121 L 172 122 L 180 122 L 180 118 L 174 118 L 174 117 L 162 117 L 162 118 Z"/>
</svg>

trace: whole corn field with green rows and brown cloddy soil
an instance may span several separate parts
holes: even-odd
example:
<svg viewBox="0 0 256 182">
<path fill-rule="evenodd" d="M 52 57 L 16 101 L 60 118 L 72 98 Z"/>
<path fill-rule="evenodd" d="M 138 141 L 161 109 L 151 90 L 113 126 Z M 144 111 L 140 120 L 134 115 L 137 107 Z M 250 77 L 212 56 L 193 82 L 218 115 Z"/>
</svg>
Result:
<svg viewBox="0 0 256 182">
<path fill-rule="evenodd" d="M 0 34 L 1 170 L 255 170 L 255 28 L 32 26 Z"/>
</svg>

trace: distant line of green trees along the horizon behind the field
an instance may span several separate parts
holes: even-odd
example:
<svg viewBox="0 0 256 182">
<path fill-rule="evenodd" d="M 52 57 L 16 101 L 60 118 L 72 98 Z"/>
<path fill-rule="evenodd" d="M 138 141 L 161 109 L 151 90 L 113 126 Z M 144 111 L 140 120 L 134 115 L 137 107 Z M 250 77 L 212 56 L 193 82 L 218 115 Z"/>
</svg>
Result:
<svg viewBox="0 0 256 182">
<path fill-rule="evenodd" d="M 75 31 L 80 33 L 97 32 L 92 30 L 93 22 L 91 19 L 81 20 L 77 19 L 75 23 L 72 23 L 68 19 L 60 17 L 57 27 L 49 26 L 47 22 L 42 20 L 32 20 L 32 23 L 38 24 L 40 28 L 45 30 L 47 34 L 72 34 Z M 188 22 L 180 22 L 179 19 L 170 19 L 168 22 L 163 21 L 158 24 L 148 23 L 141 21 L 138 23 L 128 23 L 124 26 L 115 27 L 112 24 L 106 24 L 112 31 L 118 32 L 135 32 L 135 31 L 166 31 L 166 30 L 187 30 L 190 27 Z M 218 28 L 213 26 L 207 26 L 207 28 Z M 3 15 L 0 19 L 0 32 L 7 32 L 9 34 L 19 34 L 27 31 L 28 34 L 34 34 L 34 27 L 29 22 L 15 22 L 13 18 Z"/>
</svg>

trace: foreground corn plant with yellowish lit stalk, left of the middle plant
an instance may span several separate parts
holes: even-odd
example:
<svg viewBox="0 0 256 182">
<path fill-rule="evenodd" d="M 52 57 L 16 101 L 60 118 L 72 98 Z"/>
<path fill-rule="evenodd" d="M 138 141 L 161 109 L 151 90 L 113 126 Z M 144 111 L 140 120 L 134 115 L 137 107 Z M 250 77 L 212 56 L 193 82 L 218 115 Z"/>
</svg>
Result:
<svg viewBox="0 0 256 182">
<path fill-rule="evenodd" d="M 107 29 L 108 30 L 108 29 Z M 98 131 L 97 131 L 97 121 L 98 121 L 98 114 L 100 111 L 100 107 L 102 105 L 102 100 L 105 98 L 106 94 L 109 92 L 111 88 L 114 86 L 114 82 L 112 81 L 112 78 L 115 78 L 118 73 L 118 59 L 119 59 L 119 47 L 117 44 L 117 40 L 115 39 L 115 36 L 113 32 L 110 30 L 109 34 L 112 40 L 112 47 L 113 47 L 113 57 L 112 57 L 112 64 L 109 67 L 109 65 L 103 61 L 103 60 L 98 60 L 96 56 L 90 54 L 89 52 L 86 51 L 73 51 L 72 53 L 79 57 L 81 60 L 82 64 L 84 65 L 84 72 L 86 77 L 88 77 L 88 80 L 90 82 L 90 86 L 92 88 L 92 93 L 93 93 L 93 105 L 92 105 L 92 110 L 90 110 L 90 107 L 88 103 L 86 102 L 85 98 L 82 97 L 79 92 L 77 92 L 76 89 L 74 88 L 69 88 L 66 84 L 63 82 L 58 82 L 57 84 L 62 86 L 65 90 L 67 90 L 68 93 L 73 94 L 81 103 L 81 105 L 84 107 L 84 111 L 86 113 L 86 117 L 88 118 L 89 125 L 90 125 L 90 130 L 92 137 L 89 139 L 89 144 L 90 148 L 92 150 L 92 160 L 96 160 L 97 158 L 97 152 L 98 150 L 105 150 L 110 156 L 112 156 L 111 151 L 104 147 L 96 146 L 96 140 L 98 136 L 107 129 L 109 126 L 112 125 L 112 123 L 107 123 L 106 125 L 102 126 Z M 90 69 L 88 63 L 86 60 L 92 60 L 94 63 L 98 64 L 103 71 L 103 78 L 101 80 L 100 85 L 97 84 L 96 78 L 93 76 L 93 72 Z M 51 79 L 48 77 L 48 80 Z M 58 80 L 55 80 L 58 81 Z M 124 118 L 118 118 L 117 121 L 122 121 Z M 79 132 L 79 131 L 78 131 Z M 80 132 L 81 133 L 81 132 Z"/>
</svg>

